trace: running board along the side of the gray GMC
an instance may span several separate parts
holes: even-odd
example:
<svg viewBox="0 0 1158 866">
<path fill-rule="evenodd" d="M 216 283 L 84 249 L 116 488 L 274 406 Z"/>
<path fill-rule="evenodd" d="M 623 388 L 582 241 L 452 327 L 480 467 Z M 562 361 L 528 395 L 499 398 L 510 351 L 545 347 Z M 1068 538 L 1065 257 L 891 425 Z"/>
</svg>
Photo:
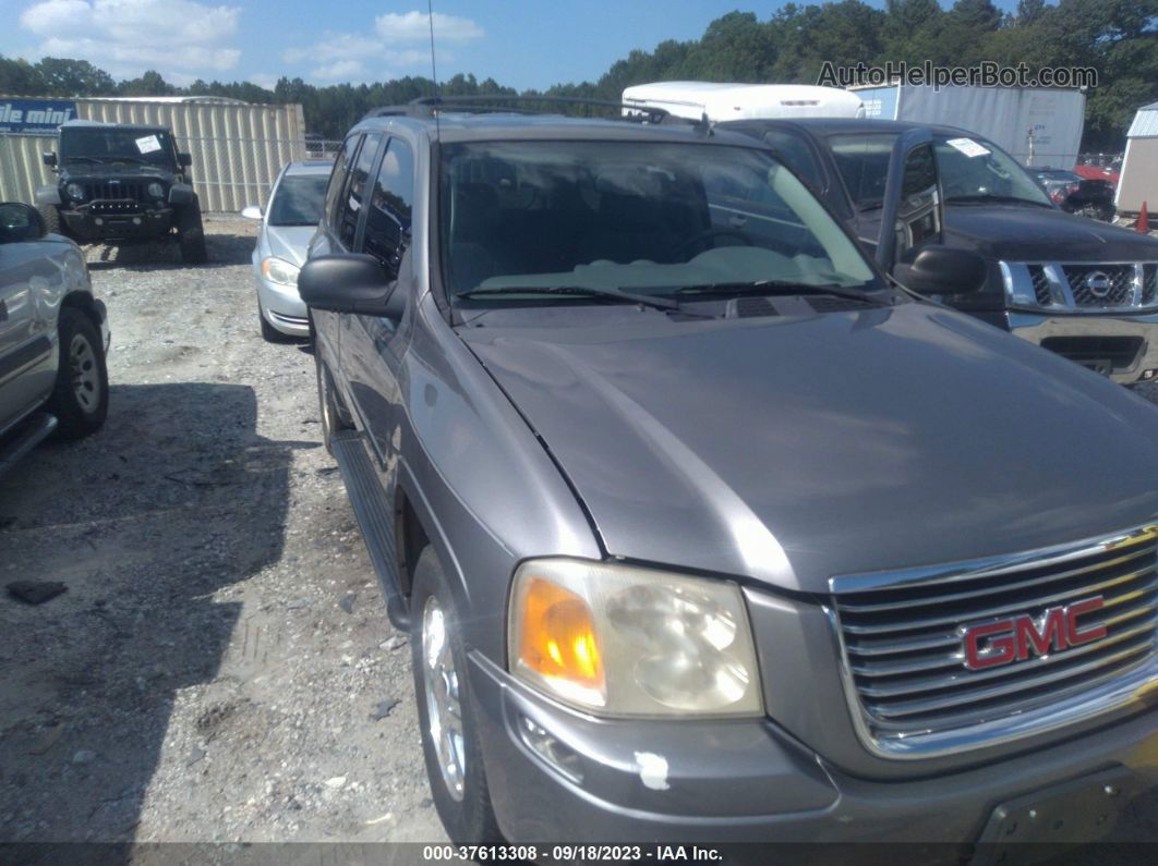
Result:
<svg viewBox="0 0 1158 866">
<path fill-rule="evenodd" d="M 369 561 L 382 585 L 386 615 L 400 631 L 410 631 L 410 605 L 398 580 L 398 558 L 394 549 L 394 519 L 382 494 L 374 464 L 371 462 L 357 430 L 340 430 L 330 438 L 334 458 L 346 483 L 350 504 L 361 528 Z"/>
</svg>

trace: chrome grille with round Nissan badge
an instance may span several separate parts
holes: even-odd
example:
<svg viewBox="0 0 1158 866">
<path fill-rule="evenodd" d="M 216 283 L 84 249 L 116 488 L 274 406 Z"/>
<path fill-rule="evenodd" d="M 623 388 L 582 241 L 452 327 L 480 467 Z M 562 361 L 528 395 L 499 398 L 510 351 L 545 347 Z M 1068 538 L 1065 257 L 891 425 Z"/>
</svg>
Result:
<svg viewBox="0 0 1158 866">
<path fill-rule="evenodd" d="M 1019 309 L 1078 311 L 1158 306 L 1158 262 L 1001 262 L 1005 294 Z"/>
</svg>

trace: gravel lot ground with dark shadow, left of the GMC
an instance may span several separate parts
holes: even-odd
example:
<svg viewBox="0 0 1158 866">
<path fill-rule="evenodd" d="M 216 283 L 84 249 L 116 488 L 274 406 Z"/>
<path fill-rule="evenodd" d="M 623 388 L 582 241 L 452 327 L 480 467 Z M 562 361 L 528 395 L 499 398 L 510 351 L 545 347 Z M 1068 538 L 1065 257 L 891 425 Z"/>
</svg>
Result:
<svg viewBox="0 0 1158 866">
<path fill-rule="evenodd" d="M 0 841 L 445 839 L 313 358 L 257 332 L 254 225 L 207 221 L 207 267 L 94 264 L 108 423 L 0 480 L 0 584 L 68 586 L 0 597 Z M 1158 838 L 1150 802 L 1122 838 Z"/>
</svg>

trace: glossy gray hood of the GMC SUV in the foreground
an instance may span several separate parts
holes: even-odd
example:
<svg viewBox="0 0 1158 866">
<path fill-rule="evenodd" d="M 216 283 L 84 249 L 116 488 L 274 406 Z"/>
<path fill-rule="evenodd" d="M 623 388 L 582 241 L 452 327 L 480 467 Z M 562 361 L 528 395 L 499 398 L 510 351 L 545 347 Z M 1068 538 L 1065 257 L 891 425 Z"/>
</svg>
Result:
<svg viewBox="0 0 1158 866">
<path fill-rule="evenodd" d="M 611 555 L 819 593 L 1158 513 L 1155 408 L 960 313 L 637 321 L 461 332 Z"/>
</svg>

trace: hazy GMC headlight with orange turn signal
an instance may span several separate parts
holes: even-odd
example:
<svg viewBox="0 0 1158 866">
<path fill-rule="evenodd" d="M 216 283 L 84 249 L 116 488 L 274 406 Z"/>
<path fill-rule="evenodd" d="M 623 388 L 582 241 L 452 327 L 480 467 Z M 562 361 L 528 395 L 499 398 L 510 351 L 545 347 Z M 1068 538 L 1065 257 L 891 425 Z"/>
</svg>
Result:
<svg viewBox="0 0 1158 866">
<path fill-rule="evenodd" d="M 508 658 L 516 676 L 608 716 L 760 716 L 760 676 L 740 587 L 582 560 L 514 575 Z"/>
</svg>

